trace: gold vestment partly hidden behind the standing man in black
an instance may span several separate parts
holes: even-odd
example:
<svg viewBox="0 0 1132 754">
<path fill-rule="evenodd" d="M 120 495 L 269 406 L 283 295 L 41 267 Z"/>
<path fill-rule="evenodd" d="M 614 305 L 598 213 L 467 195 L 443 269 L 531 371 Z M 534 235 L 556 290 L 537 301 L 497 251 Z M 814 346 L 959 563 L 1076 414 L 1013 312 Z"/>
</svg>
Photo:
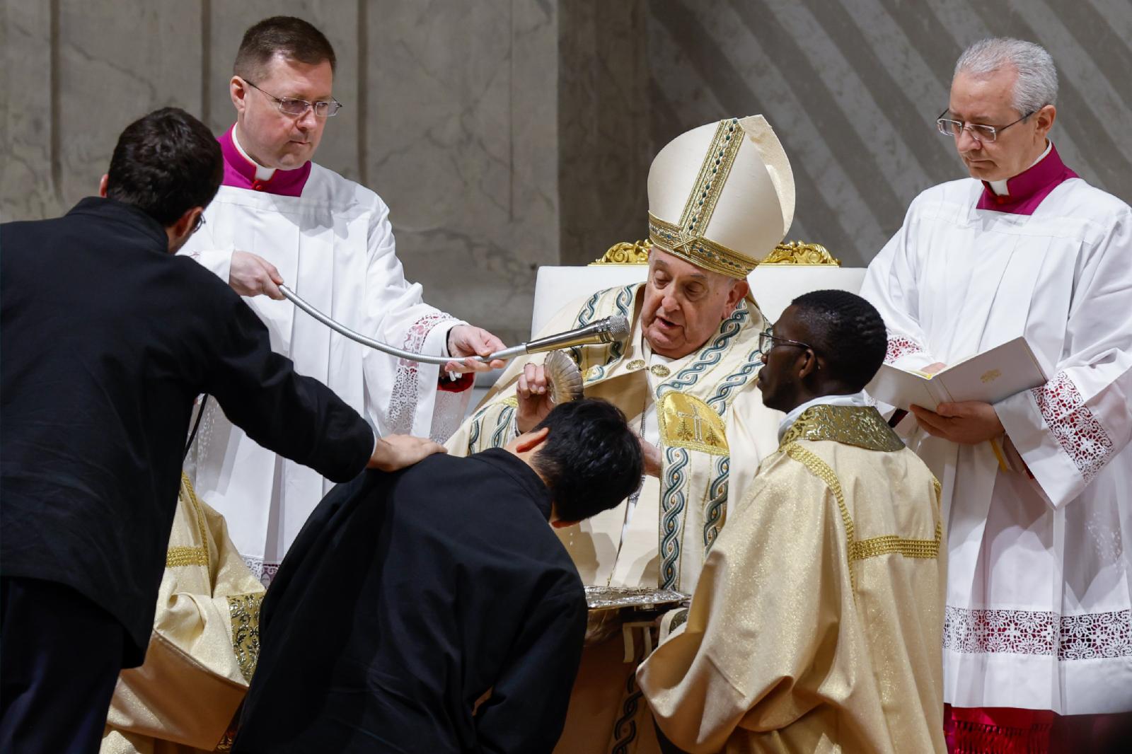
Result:
<svg viewBox="0 0 1132 754">
<path fill-rule="evenodd" d="M 145 663 L 114 688 L 101 754 L 226 751 L 259 656 L 264 586 L 181 475 Z"/>
</svg>

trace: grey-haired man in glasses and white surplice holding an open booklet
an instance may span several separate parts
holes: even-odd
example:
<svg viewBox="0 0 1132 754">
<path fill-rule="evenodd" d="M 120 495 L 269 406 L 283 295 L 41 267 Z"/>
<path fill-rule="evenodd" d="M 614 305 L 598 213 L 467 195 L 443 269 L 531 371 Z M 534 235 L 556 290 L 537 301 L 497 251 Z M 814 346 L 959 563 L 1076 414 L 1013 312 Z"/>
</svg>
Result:
<svg viewBox="0 0 1132 754">
<path fill-rule="evenodd" d="M 1037 44 L 963 52 L 935 125 L 970 178 L 912 202 L 861 289 L 897 367 L 936 371 L 1024 336 L 1049 376 L 994 404 L 912 406 L 898 426 L 950 512 L 955 751 L 1109 751 L 1089 747 L 1101 717 L 1132 711 L 1132 209 L 1062 162 L 1056 101 Z"/>
</svg>

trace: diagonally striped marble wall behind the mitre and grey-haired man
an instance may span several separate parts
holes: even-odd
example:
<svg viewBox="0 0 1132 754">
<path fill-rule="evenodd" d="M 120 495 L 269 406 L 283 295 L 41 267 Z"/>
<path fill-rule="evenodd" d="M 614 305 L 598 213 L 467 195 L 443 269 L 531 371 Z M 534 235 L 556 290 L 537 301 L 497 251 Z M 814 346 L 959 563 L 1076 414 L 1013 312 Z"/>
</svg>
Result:
<svg viewBox="0 0 1132 754">
<path fill-rule="evenodd" d="M 934 120 L 955 60 L 988 36 L 1044 45 L 1065 162 L 1132 202 L 1130 0 L 658 0 L 649 3 L 652 142 L 764 113 L 797 185 L 790 238 L 867 263 L 908 203 L 966 177 Z"/>
</svg>

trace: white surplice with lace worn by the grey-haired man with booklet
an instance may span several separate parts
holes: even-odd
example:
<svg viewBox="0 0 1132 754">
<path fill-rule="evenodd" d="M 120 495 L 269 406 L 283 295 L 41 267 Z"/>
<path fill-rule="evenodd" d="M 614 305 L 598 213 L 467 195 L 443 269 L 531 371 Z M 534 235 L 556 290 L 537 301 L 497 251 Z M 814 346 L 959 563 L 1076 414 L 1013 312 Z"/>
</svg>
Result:
<svg viewBox="0 0 1132 754">
<path fill-rule="evenodd" d="M 1132 710 L 1132 212 L 1079 178 L 1032 215 L 978 209 L 983 190 L 924 191 L 861 289 L 890 363 L 1024 335 L 1050 375 L 995 404 L 1032 479 L 1000 471 L 989 443 L 909 437 L 944 485 L 944 699 Z"/>
</svg>

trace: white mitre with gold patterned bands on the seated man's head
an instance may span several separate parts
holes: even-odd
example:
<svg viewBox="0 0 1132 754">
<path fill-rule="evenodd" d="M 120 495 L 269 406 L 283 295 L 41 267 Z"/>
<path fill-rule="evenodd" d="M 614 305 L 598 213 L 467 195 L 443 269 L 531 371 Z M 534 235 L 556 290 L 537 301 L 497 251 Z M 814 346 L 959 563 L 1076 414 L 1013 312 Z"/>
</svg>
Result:
<svg viewBox="0 0 1132 754">
<path fill-rule="evenodd" d="M 649 170 L 649 240 L 738 280 L 786 238 L 794 173 L 762 115 L 731 118 L 669 142 Z"/>
</svg>

